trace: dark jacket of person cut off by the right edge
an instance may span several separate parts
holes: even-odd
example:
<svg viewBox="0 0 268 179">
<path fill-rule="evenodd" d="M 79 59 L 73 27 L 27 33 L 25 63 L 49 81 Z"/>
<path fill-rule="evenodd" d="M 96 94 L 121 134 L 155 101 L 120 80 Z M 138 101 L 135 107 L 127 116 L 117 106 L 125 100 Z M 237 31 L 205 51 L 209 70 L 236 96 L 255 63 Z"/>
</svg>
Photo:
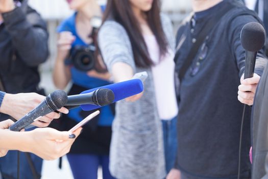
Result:
<svg viewBox="0 0 268 179">
<path fill-rule="evenodd" d="M 261 77 L 255 96 L 252 116 L 253 172 L 252 179 L 263 177 L 268 165 L 268 66 Z M 266 158 L 266 163 L 265 163 Z M 267 171 L 268 172 L 268 171 Z M 268 178 L 267 175 L 265 178 Z"/>
</svg>

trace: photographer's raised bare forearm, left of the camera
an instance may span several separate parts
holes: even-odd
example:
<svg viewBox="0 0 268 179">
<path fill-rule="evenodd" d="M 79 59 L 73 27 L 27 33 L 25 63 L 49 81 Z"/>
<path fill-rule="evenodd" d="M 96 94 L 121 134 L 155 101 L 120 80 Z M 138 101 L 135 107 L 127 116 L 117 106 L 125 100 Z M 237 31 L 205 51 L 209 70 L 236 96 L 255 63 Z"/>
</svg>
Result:
<svg viewBox="0 0 268 179">
<path fill-rule="evenodd" d="M 63 60 L 56 60 L 53 71 L 53 81 L 57 88 L 64 89 L 70 81 L 71 74 L 69 67 L 66 66 Z"/>
</svg>

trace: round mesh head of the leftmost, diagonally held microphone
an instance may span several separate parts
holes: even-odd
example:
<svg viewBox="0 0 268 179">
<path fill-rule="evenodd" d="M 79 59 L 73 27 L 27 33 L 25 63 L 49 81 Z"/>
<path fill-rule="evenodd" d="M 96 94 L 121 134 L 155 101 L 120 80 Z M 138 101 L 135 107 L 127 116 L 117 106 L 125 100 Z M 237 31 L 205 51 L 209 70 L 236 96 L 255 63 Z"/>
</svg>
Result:
<svg viewBox="0 0 268 179">
<path fill-rule="evenodd" d="M 66 92 L 62 90 L 56 90 L 46 97 L 47 105 L 54 111 L 65 106 L 68 101 Z"/>
</svg>

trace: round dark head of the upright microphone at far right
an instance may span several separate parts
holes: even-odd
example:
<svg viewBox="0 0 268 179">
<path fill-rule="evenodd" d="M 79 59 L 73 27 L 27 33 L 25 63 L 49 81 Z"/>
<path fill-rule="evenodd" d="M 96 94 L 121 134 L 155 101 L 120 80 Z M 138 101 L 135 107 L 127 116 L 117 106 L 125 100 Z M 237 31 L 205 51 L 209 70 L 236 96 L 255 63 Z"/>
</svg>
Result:
<svg viewBox="0 0 268 179">
<path fill-rule="evenodd" d="M 240 40 L 244 49 L 257 52 L 264 46 L 265 30 L 259 23 L 248 23 L 241 30 Z"/>
</svg>

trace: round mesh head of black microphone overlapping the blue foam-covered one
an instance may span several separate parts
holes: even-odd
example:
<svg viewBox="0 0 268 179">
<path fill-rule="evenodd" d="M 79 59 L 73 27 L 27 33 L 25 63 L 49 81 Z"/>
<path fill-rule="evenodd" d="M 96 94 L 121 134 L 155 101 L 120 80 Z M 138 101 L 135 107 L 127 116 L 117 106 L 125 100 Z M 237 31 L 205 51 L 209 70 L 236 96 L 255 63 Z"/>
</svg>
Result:
<svg viewBox="0 0 268 179">
<path fill-rule="evenodd" d="M 113 102 L 114 93 L 111 89 L 108 88 L 100 88 L 96 94 L 96 100 L 98 101 L 100 106 L 106 106 Z"/>
</svg>

